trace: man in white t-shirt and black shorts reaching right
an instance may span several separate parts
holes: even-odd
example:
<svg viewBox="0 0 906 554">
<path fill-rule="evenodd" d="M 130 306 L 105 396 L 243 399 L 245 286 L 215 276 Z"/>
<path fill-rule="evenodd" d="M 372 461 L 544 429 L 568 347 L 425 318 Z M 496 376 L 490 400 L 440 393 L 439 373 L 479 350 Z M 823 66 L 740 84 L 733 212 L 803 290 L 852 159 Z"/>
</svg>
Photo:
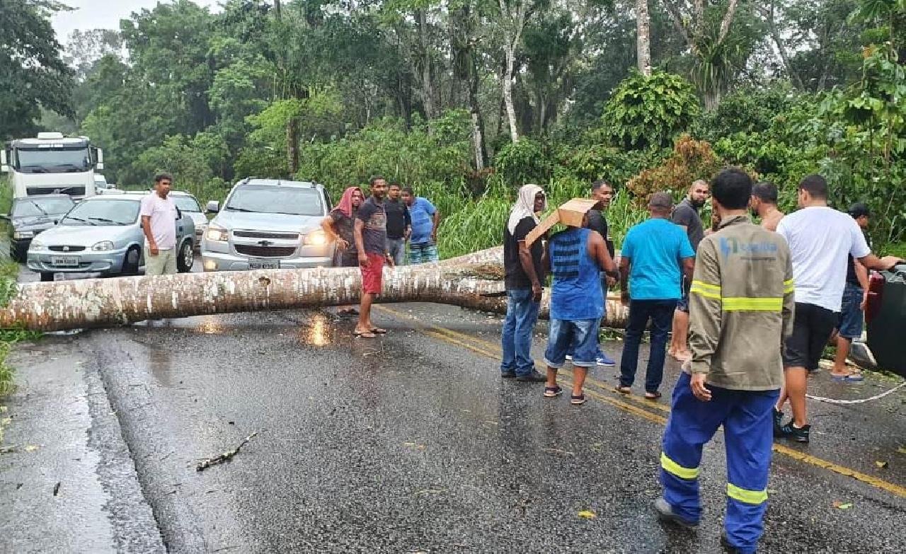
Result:
<svg viewBox="0 0 906 554">
<path fill-rule="evenodd" d="M 807 443 L 811 428 L 805 411 L 807 377 L 818 368 L 837 324 L 847 256 L 852 254 L 865 267 L 876 270 L 890 269 L 900 260 L 872 254 L 855 220 L 827 206 L 824 177 L 805 177 L 799 184 L 798 200 L 802 209 L 777 224 L 777 233 L 786 239 L 793 260 L 795 322 L 784 348 L 786 387 L 774 411 L 774 435 Z M 786 398 L 793 408 L 793 419 L 781 425 Z"/>
</svg>

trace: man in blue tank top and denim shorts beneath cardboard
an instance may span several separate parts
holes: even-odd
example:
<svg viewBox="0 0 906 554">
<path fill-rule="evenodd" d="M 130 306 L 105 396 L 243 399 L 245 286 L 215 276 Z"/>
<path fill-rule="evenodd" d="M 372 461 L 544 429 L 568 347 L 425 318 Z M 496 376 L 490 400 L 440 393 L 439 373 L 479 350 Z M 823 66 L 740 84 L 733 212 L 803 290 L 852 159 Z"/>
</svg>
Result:
<svg viewBox="0 0 906 554">
<path fill-rule="evenodd" d="M 594 206 L 589 206 L 591 209 Z M 588 223 L 586 211 L 583 227 Z M 573 352 L 573 394 L 570 402 L 584 404 L 582 387 L 588 368 L 596 364 L 598 330 L 604 315 L 601 272 L 614 278 L 620 273 L 601 234 L 583 227 L 567 227 L 547 243 L 547 259 L 554 275 L 551 284 L 550 338 L 545 350 L 545 396 L 559 396 L 557 369 L 566 353 Z"/>
</svg>

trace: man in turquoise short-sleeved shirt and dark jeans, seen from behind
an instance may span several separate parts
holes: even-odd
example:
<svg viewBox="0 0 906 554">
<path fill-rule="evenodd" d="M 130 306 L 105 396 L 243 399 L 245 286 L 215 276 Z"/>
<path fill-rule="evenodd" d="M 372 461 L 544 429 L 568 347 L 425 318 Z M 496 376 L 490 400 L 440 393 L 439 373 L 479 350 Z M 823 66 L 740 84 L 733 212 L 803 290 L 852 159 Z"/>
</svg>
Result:
<svg viewBox="0 0 906 554">
<path fill-rule="evenodd" d="M 631 392 L 641 335 L 651 320 L 651 352 L 645 373 L 645 398 L 649 400 L 660 398 L 664 348 L 673 310 L 682 298 L 682 274 L 685 272 L 687 281 L 692 282 L 695 269 L 695 251 L 686 231 L 670 222 L 672 207 L 673 199 L 668 193 L 651 195 L 648 203 L 651 218 L 629 230 L 620 251 L 621 299 L 623 304 L 629 304 L 629 321 L 617 390 L 627 395 Z"/>
</svg>

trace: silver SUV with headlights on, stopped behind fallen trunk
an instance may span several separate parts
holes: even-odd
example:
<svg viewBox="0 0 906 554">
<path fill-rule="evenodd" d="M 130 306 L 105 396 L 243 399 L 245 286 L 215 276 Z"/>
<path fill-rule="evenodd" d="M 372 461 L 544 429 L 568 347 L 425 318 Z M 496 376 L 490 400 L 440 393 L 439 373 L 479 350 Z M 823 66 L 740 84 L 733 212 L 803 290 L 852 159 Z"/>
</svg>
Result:
<svg viewBox="0 0 906 554">
<path fill-rule="evenodd" d="M 323 186 L 298 181 L 246 178 L 223 206 L 207 203 L 217 216 L 201 241 L 206 272 L 329 267 L 333 243 L 321 221 L 331 209 Z"/>
</svg>

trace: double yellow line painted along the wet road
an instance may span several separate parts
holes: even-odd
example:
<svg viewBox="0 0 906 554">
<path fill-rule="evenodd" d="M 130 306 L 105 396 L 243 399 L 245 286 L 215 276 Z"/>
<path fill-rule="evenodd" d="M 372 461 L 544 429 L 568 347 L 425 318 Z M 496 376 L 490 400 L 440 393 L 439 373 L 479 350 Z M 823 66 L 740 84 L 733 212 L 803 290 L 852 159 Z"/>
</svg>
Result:
<svg viewBox="0 0 906 554">
<path fill-rule="evenodd" d="M 478 339 L 477 337 L 473 337 L 471 335 L 466 335 L 464 333 L 460 333 L 455 330 L 449 330 L 444 327 L 434 325 L 432 323 L 425 323 L 425 322 L 419 320 L 418 318 L 411 316 L 410 314 L 403 313 L 399 310 L 393 310 L 392 308 L 387 308 L 386 306 L 375 306 L 375 308 L 378 310 L 386 311 L 386 312 L 390 313 L 391 315 L 397 316 L 399 318 L 411 320 L 411 321 L 417 323 L 419 325 L 419 327 L 429 329 L 429 330 L 425 330 L 425 329 L 421 330 L 422 333 L 428 335 L 429 337 L 433 337 L 435 339 L 442 340 L 444 342 L 447 342 L 448 344 L 454 344 L 457 346 L 461 346 L 465 349 L 472 350 L 473 352 L 476 352 L 483 356 L 487 356 L 488 358 L 496 359 L 496 358 L 500 357 L 500 347 L 492 342 L 488 342 L 487 340 Z M 477 345 L 479 345 L 479 346 L 477 346 Z M 482 348 L 482 347 L 484 347 L 484 348 Z M 535 360 L 535 363 L 538 363 L 538 360 Z M 569 373 L 570 376 L 572 377 L 572 372 L 569 372 L 568 370 L 561 370 L 561 372 Z M 571 381 L 569 381 L 568 379 L 565 379 L 563 377 L 558 378 L 558 381 L 560 381 L 564 385 L 567 385 L 570 387 L 572 387 L 572 385 L 573 385 L 573 383 Z M 601 387 L 606 387 L 606 385 L 604 385 L 603 383 L 601 383 L 599 381 L 595 381 L 588 377 L 586 377 L 585 381 L 595 383 L 596 385 L 601 386 Z M 621 410 L 623 410 L 625 412 L 629 412 L 635 416 L 641 416 L 649 421 L 659 423 L 660 425 L 665 425 L 667 423 L 667 418 L 665 416 L 660 416 L 658 414 L 652 414 L 651 412 L 649 412 L 645 409 L 642 409 L 639 406 L 634 406 L 631 404 L 627 404 L 625 402 L 621 402 L 620 400 L 612 398 L 611 396 L 605 396 L 605 395 L 602 395 L 601 393 L 593 391 L 593 390 L 585 390 L 585 394 L 588 396 L 592 396 L 593 398 L 596 398 L 598 400 L 602 400 L 603 402 L 611 404 L 612 406 L 616 406 L 616 407 L 620 408 Z M 657 406 L 661 409 L 665 409 L 668 412 L 670 411 L 670 408 L 667 406 L 662 406 L 660 404 L 650 402 L 650 401 L 644 401 L 644 402 L 645 402 L 646 407 Z M 874 477 L 867 473 L 858 472 L 858 471 L 856 471 L 852 468 L 846 467 L 844 465 L 839 465 L 837 463 L 829 462 L 827 460 L 818 458 L 811 454 L 805 454 L 805 453 L 799 452 L 798 450 L 795 450 L 788 446 L 784 446 L 783 444 L 774 444 L 774 452 L 776 452 L 777 454 L 784 454 L 784 455 L 789 456 L 800 462 L 808 463 L 810 465 L 814 465 L 815 467 L 820 467 L 820 468 L 828 470 L 830 472 L 838 473 L 838 474 L 844 475 L 846 477 L 852 477 L 856 481 L 864 482 L 866 484 L 872 485 L 872 487 L 881 489 L 883 491 L 891 492 L 892 494 L 894 494 L 896 496 L 900 496 L 901 498 L 906 498 L 906 487 L 902 487 L 898 484 L 894 484 L 892 482 L 887 482 L 882 479 L 878 479 L 877 477 Z"/>
</svg>

